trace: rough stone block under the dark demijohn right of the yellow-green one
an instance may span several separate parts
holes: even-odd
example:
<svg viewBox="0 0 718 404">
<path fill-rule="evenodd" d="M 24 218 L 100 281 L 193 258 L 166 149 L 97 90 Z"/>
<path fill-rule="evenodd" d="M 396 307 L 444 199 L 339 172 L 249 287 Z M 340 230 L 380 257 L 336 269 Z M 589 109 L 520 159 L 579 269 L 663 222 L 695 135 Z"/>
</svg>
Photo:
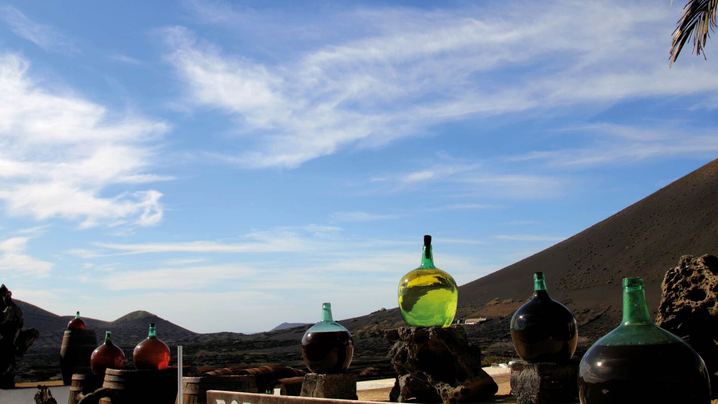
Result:
<svg viewBox="0 0 718 404">
<path fill-rule="evenodd" d="M 579 359 L 511 364 L 511 394 L 517 404 L 575 403 L 578 396 Z"/>
</svg>

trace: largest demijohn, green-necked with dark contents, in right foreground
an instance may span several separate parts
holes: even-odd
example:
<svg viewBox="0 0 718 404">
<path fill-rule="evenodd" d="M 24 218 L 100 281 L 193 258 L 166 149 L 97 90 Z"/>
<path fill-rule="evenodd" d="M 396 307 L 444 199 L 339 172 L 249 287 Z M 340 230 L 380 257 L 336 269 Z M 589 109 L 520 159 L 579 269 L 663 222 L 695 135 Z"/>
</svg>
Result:
<svg viewBox="0 0 718 404">
<path fill-rule="evenodd" d="M 595 342 L 579 367 L 582 404 L 710 404 L 703 359 L 651 320 L 643 278 L 623 278 L 623 321 Z"/>
</svg>

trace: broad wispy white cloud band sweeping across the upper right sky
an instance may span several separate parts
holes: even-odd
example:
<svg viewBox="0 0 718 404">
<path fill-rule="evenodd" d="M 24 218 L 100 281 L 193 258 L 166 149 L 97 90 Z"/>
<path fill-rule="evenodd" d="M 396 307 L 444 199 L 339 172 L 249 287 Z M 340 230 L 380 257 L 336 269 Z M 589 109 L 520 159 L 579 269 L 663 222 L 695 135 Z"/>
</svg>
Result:
<svg viewBox="0 0 718 404">
<path fill-rule="evenodd" d="M 218 2 L 192 6 L 221 24 L 229 23 L 227 12 L 237 12 Z M 297 167 L 465 116 L 560 114 L 572 106 L 600 109 L 635 97 L 718 89 L 718 73 L 703 65 L 668 69 L 655 38 L 673 13 L 649 1 L 489 5 L 433 14 L 359 9 L 342 17 L 366 21 L 376 35 L 337 40 L 277 65 L 225 55 L 183 27 L 165 30 L 168 60 L 187 83 L 188 104 L 219 109 L 238 132 L 253 134 L 243 137 L 242 150 L 215 157 L 245 167 Z M 421 170 L 404 180 L 434 175 Z"/>
</svg>

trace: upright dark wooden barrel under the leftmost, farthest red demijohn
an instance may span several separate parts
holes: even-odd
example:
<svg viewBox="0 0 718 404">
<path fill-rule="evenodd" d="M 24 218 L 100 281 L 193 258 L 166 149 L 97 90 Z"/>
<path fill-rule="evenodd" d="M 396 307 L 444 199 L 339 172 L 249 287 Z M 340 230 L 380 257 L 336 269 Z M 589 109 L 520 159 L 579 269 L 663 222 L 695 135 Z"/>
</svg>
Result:
<svg viewBox="0 0 718 404">
<path fill-rule="evenodd" d="M 65 330 L 60 346 L 60 372 L 64 385 L 73 382 L 75 373 L 92 373 L 90 357 L 97 346 L 95 330 Z"/>
</svg>

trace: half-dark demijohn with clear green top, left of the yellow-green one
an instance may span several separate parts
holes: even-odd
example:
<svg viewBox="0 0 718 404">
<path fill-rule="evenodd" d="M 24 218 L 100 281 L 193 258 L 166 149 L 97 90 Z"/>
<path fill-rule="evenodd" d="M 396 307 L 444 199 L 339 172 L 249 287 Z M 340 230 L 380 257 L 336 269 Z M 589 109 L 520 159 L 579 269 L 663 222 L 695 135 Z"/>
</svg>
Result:
<svg viewBox="0 0 718 404">
<path fill-rule="evenodd" d="M 312 373 L 345 372 L 352 363 L 354 340 L 348 329 L 332 319 L 332 304 L 322 304 L 322 321 L 302 337 L 302 359 Z"/>
</svg>

